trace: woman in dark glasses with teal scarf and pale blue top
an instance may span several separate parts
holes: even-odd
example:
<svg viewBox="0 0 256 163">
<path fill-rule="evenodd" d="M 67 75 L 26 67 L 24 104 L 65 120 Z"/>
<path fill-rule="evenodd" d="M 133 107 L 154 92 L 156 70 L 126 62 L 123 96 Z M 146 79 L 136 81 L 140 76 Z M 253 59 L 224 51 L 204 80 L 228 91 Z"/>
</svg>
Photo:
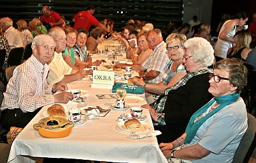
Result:
<svg viewBox="0 0 256 163">
<path fill-rule="evenodd" d="M 246 82 L 241 61 L 218 61 L 208 89 L 214 98 L 191 116 L 182 136 L 159 144 L 165 157 L 172 162 L 232 162 L 248 126 L 246 105 L 239 95 Z"/>
</svg>

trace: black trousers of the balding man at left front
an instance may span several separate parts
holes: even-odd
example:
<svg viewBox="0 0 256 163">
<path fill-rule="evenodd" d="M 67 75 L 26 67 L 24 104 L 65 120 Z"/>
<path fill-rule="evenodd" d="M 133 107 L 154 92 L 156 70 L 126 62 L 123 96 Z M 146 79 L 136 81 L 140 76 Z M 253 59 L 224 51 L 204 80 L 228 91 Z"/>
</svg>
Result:
<svg viewBox="0 0 256 163">
<path fill-rule="evenodd" d="M 28 125 L 41 108 L 34 112 L 23 113 L 21 109 L 4 109 L 2 111 L 1 125 L 4 129 L 10 130 L 11 127 L 24 128 Z"/>
</svg>

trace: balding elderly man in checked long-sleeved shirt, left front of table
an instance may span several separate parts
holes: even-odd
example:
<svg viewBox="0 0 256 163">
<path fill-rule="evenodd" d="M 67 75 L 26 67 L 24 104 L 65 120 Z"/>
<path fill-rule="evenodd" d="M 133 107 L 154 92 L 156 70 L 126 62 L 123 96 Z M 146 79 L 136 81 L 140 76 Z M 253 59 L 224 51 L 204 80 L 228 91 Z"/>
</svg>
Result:
<svg viewBox="0 0 256 163">
<path fill-rule="evenodd" d="M 52 95 L 67 90 L 67 84 L 47 84 L 47 61 L 52 58 L 55 46 L 51 36 L 36 36 L 32 42 L 33 55 L 15 68 L 1 106 L 1 125 L 6 130 L 12 126 L 24 128 L 44 105 L 67 103 L 74 98 L 68 92 Z"/>
</svg>

